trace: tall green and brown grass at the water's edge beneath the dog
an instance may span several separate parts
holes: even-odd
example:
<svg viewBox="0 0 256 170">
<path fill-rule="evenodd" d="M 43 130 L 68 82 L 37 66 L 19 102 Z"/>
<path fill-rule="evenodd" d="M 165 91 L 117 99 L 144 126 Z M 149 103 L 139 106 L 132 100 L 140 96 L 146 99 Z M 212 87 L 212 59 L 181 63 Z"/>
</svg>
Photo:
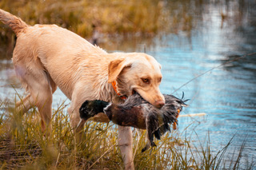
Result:
<svg viewBox="0 0 256 170">
<path fill-rule="evenodd" d="M 123 169 L 118 149 L 118 130 L 113 124 L 87 122 L 82 144 L 74 144 L 70 119 L 62 103 L 53 111 L 52 133 L 46 138 L 40 128 L 38 113 L 31 109 L 22 116 L 10 102 L 1 101 L 1 169 Z M 190 129 L 190 128 L 188 128 Z M 239 169 L 243 159 L 242 143 L 238 155 L 227 159 L 232 139 L 218 152 L 206 144 L 193 144 L 190 137 L 178 132 L 162 136 L 155 148 L 141 152 L 145 131 L 134 129 L 134 164 L 136 169 Z M 242 167 L 244 168 L 244 167 Z M 253 169 L 249 161 L 245 169 Z"/>
</svg>

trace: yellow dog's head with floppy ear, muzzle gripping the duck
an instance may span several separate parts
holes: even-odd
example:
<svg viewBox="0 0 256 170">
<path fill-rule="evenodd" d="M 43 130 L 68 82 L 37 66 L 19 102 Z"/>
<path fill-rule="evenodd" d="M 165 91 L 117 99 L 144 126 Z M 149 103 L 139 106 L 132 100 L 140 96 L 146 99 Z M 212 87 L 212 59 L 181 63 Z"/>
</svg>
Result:
<svg viewBox="0 0 256 170">
<path fill-rule="evenodd" d="M 165 98 L 160 92 L 161 65 L 146 53 L 112 53 L 118 55 L 110 61 L 108 82 L 117 82 L 118 92 L 129 97 L 139 93 L 146 101 L 161 108 Z"/>
</svg>

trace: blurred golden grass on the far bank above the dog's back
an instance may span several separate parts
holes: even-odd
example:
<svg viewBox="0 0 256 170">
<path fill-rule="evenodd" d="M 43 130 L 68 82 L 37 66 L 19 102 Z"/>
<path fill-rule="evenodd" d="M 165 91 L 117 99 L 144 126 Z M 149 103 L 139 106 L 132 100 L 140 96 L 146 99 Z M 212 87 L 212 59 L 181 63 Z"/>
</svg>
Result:
<svg viewBox="0 0 256 170">
<path fill-rule="evenodd" d="M 3 0 L 0 6 L 30 25 L 54 23 L 82 37 L 92 33 L 93 24 L 103 33 L 154 33 L 163 19 L 160 1 Z"/>
</svg>

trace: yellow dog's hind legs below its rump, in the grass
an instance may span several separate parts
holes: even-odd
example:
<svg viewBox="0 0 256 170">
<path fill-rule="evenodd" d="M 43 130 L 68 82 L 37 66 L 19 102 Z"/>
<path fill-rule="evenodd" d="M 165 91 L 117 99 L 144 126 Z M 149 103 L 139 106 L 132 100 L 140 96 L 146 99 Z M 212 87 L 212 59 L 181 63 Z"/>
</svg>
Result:
<svg viewBox="0 0 256 170">
<path fill-rule="evenodd" d="M 33 67 L 33 68 L 32 68 Z M 18 74 L 17 66 L 14 65 Z M 26 65 L 18 65 L 18 69 L 22 69 L 22 74 L 18 74 L 23 84 L 26 85 L 30 93 L 21 102 L 19 107 L 23 107 L 22 111 L 27 111 L 33 105 L 38 108 L 41 120 L 42 132 L 50 133 L 51 130 L 51 114 L 52 114 L 52 93 L 56 89 L 54 82 L 51 82 L 49 74 L 38 67 L 30 65 L 30 69 L 26 69 Z M 23 106 L 22 106 L 23 105 Z"/>
</svg>

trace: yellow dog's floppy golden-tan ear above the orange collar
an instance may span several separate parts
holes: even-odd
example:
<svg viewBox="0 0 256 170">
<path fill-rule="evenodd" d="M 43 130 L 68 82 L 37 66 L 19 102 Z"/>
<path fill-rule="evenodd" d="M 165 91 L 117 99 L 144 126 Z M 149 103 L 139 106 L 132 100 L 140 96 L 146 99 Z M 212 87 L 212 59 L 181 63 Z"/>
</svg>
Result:
<svg viewBox="0 0 256 170">
<path fill-rule="evenodd" d="M 115 81 L 117 79 L 118 75 L 122 72 L 122 69 L 124 69 L 125 67 L 128 67 L 130 65 L 131 64 L 127 63 L 125 58 L 110 61 L 108 82 L 111 83 L 111 82 Z"/>
</svg>

